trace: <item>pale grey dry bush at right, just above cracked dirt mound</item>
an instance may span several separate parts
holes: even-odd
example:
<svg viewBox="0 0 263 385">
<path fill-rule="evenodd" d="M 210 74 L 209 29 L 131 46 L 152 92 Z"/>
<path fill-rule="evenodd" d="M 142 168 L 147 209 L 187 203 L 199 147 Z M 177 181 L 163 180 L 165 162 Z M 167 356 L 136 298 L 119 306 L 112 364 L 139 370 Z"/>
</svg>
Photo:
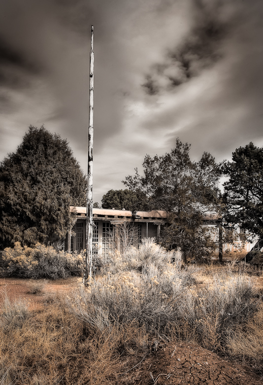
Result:
<svg viewBox="0 0 263 385">
<path fill-rule="evenodd" d="M 243 275 L 216 274 L 203 289 L 188 287 L 180 304 L 183 334 L 195 335 L 206 348 L 225 345 L 229 330 L 249 320 L 259 306 L 252 281 Z M 186 328 L 186 330 L 185 330 Z M 180 333 L 180 330 L 178 330 Z"/>
</svg>

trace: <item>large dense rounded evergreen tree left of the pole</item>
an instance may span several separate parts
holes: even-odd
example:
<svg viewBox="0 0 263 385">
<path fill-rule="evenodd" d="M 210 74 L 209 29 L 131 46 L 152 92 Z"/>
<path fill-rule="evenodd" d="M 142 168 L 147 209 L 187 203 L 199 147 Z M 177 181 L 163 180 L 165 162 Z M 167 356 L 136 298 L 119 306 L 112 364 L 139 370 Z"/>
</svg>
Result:
<svg viewBox="0 0 263 385">
<path fill-rule="evenodd" d="M 69 206 L 85 204 L 86 178 L 68 142 L 30 126 L 15 153 L 0 163 L 0 247 L 65 237 Z"/>
</svg>

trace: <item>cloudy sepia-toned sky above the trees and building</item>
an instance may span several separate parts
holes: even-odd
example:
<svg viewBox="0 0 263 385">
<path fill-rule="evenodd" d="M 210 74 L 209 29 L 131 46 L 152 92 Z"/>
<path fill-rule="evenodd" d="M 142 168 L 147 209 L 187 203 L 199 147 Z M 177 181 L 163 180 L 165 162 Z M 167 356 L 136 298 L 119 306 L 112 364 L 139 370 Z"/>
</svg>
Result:
<svg viewBox="0 0 263 385">
<path fill-rule="evenodd" d="M 216 161 L 263 146 L 262 0 L 1 0 L 0 161 L 30 125 L 87 173 L 94 25 L 94 197 L 176 139 Z"/>
</svg>

